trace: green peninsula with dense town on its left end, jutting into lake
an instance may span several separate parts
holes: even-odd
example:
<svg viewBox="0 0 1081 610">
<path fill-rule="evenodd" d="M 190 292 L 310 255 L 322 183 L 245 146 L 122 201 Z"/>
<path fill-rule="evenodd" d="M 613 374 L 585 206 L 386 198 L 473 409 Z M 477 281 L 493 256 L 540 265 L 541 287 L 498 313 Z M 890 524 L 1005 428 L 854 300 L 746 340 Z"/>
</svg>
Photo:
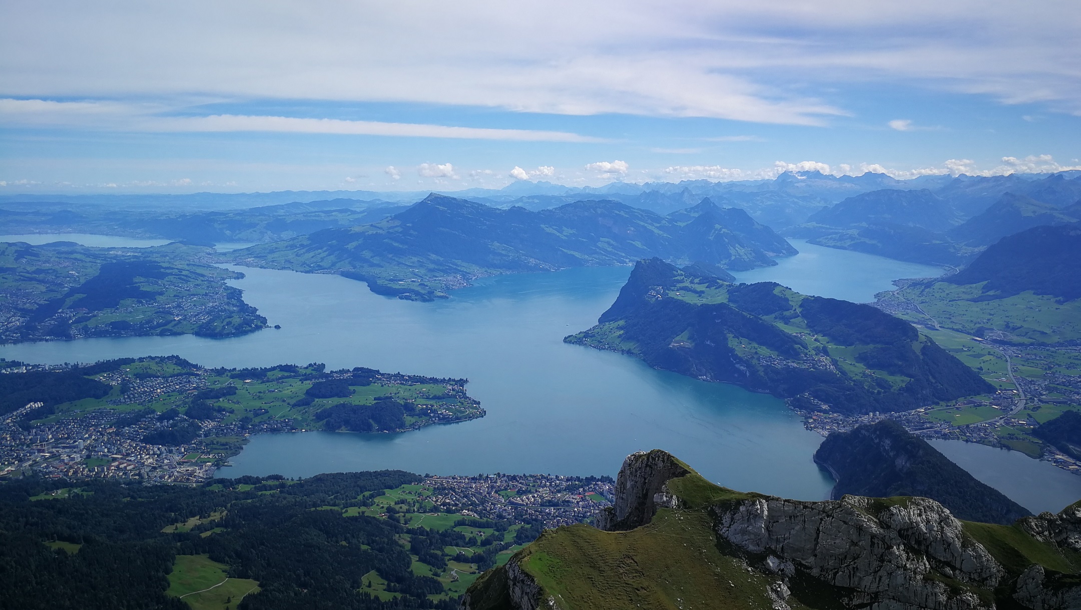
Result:
<svg viewBox="0 0 1081 610">
<path fill-rule="evenodd" d="M 484 416 L 467 380 L 363 367 L 208 369 L 170 356 L 0 371 L 2 476 L 198 482 L 261 433 L 390 434 Z"/>
</svg>

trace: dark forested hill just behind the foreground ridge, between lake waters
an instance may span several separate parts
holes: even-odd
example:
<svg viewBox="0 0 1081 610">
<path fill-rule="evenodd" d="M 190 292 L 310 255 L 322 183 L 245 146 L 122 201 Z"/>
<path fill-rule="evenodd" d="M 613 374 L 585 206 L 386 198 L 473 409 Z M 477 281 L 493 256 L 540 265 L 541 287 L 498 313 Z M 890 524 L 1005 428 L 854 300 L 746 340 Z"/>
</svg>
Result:
<svg viewBox="0 0 1081 610">
<path fill-rule="evenodd" d="M 988 523 L 1010 525 L 1031 515 L 891 420 L 829 435 L 814 459 L 837 479 L 835 499 L 919 495 L 960 519 Z"/>
</svg>

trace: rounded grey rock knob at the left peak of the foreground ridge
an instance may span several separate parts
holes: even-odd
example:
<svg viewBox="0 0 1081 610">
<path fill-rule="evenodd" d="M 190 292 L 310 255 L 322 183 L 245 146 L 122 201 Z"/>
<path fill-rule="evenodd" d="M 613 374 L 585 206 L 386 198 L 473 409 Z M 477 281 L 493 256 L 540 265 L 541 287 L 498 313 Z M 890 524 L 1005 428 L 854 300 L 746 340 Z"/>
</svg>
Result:
<svg viewBox="0 0 1081 610">
<path fill-rule="evenodd" d="M 663 506 L 672 502 L 665 483 L 691 470 L 667 451 L 639 451 L 623 461 L 615 482 L 615 502 L 597 516 L 598 529 L 606 531 L 632 530 L 644 526 L 657 512 L 657 501 Z M 657 498 L 657 496 L 660 498 Z"/>
</svg>

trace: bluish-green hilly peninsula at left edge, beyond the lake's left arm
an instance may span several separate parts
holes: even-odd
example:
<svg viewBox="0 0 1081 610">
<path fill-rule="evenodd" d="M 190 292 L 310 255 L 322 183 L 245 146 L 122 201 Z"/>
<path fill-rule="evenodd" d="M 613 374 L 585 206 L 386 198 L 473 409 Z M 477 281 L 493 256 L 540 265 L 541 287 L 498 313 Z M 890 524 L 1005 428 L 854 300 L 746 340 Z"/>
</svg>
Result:
<svg viewBox="0 0 1081 610">
<path fill-rule="evenodd" d="M 225 282 L 208 248 L 0 242 L 0 342 L 93 336 L 236 336 L 267 319 Z"/>
</svg>

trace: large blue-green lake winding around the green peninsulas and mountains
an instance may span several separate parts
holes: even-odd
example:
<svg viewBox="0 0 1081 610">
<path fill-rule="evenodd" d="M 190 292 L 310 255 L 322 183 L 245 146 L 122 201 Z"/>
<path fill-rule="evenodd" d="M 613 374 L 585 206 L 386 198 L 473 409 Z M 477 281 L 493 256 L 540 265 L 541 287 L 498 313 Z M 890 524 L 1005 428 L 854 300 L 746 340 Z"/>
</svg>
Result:
<svg viewBox="0 0 1081 610">
<path fill-rule="evenodd" d="M 800 255 L 737 277 L 772 278 L 809 292 L 808 282 L 813 281 L 818 294 L 869 301 L 875 292 L 890 289 L 893 278 L 937 275 L 934 267 L 799 242 L 796 247 Z M 485 278 L 435 303 L 378 296 L 339 276 L 233 268 L 246 274 L 233 286 L 281 330 L 224 340 L 170 336 L 8 345 L 0 346 L 0 357 L 66 362 L 176 354 L 212 367 L 364 366 L 468 377 L 469 394 L 488 411 L 480 420 L 398 435 L 259 435 L 231 466 L 219 470 L 222 476 L 379 468 L 440 475 L 615 475 L 628 453 L 660 448 L 734 489 L 818 500 L 827 498 L 832 486 L 811 458 L 822 437 L 804 429 L 783 401 L 562 343 L 564 335 L 596 323 L 615 300 L 629 267 Z M 1067 485 L 1065 493 L 1081 498 L 1081 477 L 1022 458 L 1029 466 L 1028 480 L 1065 475 L 1076 483 Z M 1062 496 L 1011 487 L 1009 480 L 989 485 L 1030 509 L 1045 509 Z"/>
</svg>

